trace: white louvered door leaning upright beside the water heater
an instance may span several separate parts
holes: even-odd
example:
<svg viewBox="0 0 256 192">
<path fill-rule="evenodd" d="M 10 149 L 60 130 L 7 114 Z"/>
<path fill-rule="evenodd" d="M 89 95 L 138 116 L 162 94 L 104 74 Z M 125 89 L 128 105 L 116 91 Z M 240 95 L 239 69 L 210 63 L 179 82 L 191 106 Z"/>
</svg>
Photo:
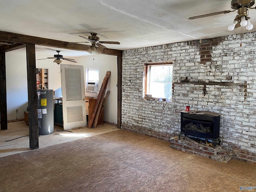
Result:
<svg viewBox="0 0 256 192">
<path fill-rule="evenodd" d="M 86 126 L 84 68 L 60 64 L 62 85 L 63 129 Z"/>
</svg>

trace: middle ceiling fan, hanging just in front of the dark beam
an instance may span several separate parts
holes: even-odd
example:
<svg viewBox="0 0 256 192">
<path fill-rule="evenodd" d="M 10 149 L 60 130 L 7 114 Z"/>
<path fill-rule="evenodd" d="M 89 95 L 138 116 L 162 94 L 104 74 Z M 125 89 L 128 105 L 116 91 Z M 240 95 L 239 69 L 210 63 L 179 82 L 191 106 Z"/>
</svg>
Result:
<svg viewBox="0 0 256 192">
<path fill-rule="evenodd" d="M 72 42 L 72 43 L 90 43 L 91 42 L 92 45 L 87 50 L 87 52 L 90 54 L 100 54 L 100 50 L 98 48 L 101 48 L 101 49 L 106 48 L 106 46 L 102 45 L 102 43 L 120 45 L 120 42 L 117 42 L 117 41 L 100 41 L 100 38 L 97 36 L 98 35 L 97 33 L 90 32 L 90 34 L 91 36 L 88 36 L 88 38 L 79 35 L 80 37 L 88 40 L 88 42 Z"/>
</svg>

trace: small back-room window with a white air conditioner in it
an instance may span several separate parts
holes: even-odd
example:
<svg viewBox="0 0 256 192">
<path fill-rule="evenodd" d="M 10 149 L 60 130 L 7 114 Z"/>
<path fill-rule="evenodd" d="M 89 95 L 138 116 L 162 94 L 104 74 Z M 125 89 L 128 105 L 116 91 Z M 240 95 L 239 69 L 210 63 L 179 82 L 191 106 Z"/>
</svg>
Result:
<svg viewBox="0 0 256 192">
<path fill-rule="evenodd" d="M 98 92 L 99 68 L 86 68 L 86 92 Z"/>
</svg>

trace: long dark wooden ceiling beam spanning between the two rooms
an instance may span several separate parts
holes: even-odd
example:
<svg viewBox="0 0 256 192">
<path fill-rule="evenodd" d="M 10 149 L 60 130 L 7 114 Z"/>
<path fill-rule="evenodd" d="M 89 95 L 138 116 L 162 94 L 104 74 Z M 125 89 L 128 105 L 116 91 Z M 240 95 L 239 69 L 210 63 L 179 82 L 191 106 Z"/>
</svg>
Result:
<svg viewBox="0 0 256 192">
<path fill-rule="evenodd" d="M 22 35 L 22 34 L 16 34 L 16 33 L 4 32 L 4 31 L 0 31 L 0 42 L 10 42 L 10 43 L 19 43 L 19 44 L 33 43 L 36 45 L 77 50 L 77 51 L 86 51 L 90 47 L 89 45 L 83 45 L 78 43 L 68 43 L 65 41 L 28 36 L 28 35 Z M 116 56 L 122 54 L 122 50 L 115 50 L 115 49 L 108 49 L 108 48 L 102 50 L 101 52 L 102 54 L 116 55 Z"/>
</svg>

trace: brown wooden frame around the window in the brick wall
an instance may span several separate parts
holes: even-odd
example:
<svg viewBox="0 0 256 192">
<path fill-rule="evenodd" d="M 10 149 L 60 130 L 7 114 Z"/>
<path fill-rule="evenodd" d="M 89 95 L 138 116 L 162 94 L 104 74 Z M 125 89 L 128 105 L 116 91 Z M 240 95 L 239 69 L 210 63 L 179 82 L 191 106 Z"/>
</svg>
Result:
<svg viewBox="0 0 256 192">
<path fill-rule="evenodd" d="M 148 86 L 149 86 L 149 72 L 150 72 L 150 66 L 164 66 L 164 65 L 173 65 L 172 61 L 165 61 L 165 62 L 149 62 L 144 64 L 144 98 L 145 95 L 148 94 Z M 173 86 L 172 86 L 172 94 L 173 94 Z"/>
</svg>

